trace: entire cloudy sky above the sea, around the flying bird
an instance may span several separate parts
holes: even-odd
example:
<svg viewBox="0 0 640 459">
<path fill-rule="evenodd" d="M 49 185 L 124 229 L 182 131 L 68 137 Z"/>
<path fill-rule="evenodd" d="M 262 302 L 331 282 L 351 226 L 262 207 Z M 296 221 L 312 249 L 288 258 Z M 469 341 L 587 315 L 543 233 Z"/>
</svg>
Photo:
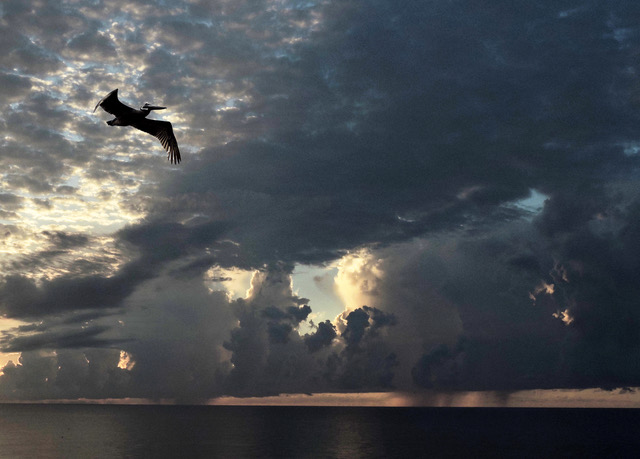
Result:
<svg viewBox="0 0 640 459">
<path fill-rule="evenodd" d="M 638 17 L 3 1 L 0 400 L 638 402 Z"/>
</svg>

